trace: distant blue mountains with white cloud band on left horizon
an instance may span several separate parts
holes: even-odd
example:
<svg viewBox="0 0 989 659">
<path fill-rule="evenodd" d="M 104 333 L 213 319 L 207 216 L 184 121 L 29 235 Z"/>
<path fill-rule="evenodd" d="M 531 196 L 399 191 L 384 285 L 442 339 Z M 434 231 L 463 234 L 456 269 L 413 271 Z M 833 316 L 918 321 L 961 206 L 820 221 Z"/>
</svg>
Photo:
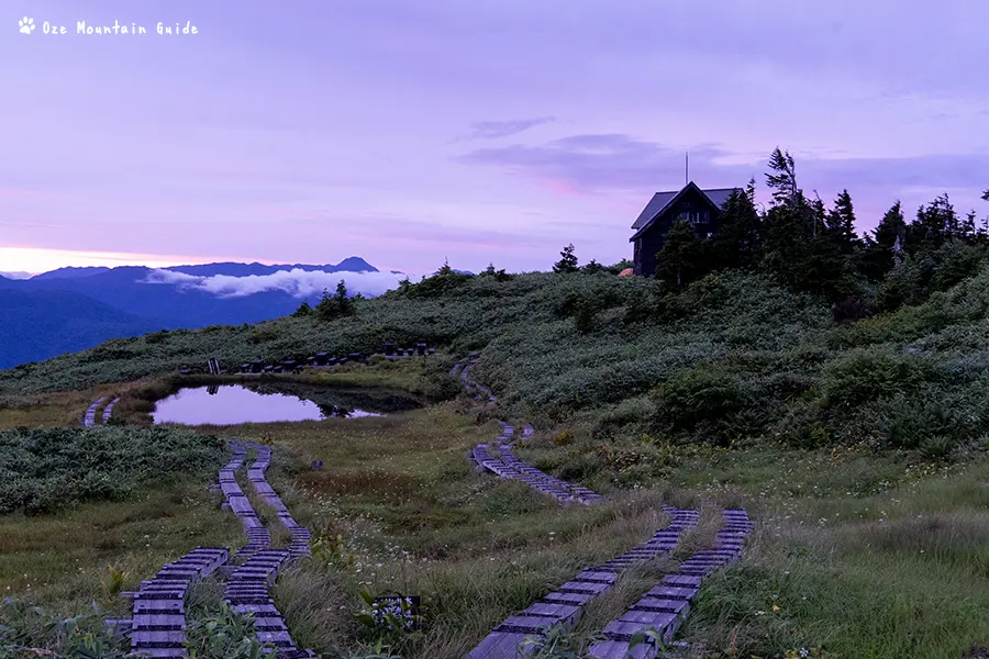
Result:
<svg viewBox="0 0 989 659">
<path fill-rule="evenodd" d="M 322 289 L 332 291 L 340 278 L 347 279 L 336 273 L 363 283 L 365 289 L 348 288 L 365 297 L 380 294 L 399 280 L 356 256 L 324 266 L 70 267 L 30 279 L 0 277 L 0 369 L 90 348 L 109 338 L 276 319 L 292 313 L 302 301 L 315 304 Z"/>
</svg>

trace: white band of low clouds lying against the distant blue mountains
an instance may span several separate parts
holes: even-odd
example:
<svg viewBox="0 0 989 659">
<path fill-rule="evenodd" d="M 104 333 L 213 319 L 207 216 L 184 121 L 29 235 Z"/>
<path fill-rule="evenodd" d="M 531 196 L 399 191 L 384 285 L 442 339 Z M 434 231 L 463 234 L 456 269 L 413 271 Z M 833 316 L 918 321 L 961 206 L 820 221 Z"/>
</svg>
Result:
<svg viewBox="0 0 989 659">
<path fill-rule="evenodd" d="M 215 275 L 197 277 L 171 270 L 152 270 L 145 283 L 169 283 L 186 289 L 196 289 L 212 293 L 218 298 L 242 298 L 255 293 L 281 291 L 295 298 L 320 295 L 324 290 L 332 293 L 337 282 L 343 279 L 347 291 L 375 297 L 398 288 L 405 275 L 393 272 L 323 272 L 320 270 L 279 270 L 270 275 L 251 275 L 231 277 Z"/>
</svg>

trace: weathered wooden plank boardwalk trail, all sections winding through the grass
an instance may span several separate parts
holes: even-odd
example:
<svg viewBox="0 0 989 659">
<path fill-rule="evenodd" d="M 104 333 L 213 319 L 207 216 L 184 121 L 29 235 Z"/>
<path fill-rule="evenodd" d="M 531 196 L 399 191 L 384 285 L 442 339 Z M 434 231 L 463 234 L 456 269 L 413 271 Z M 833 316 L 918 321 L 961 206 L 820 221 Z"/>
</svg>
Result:
<svg viewBox="0 0 989 659">
<path fill-rule="evenodd" d="M 460 379 L 479 404 L 492 405 L 497 403 L 497 396 L 473 376 L 477 360 L 478 354 L 473 353 L 458 362 L 451 375 Z M 99 399 L 90 405 L 82 418 L 84 425 L 95 425 L 97 410 L 103 400 Z M 103 410 L 104 423 L 110 418 L 116 400 L 111 401 Z M 520 480 L 554 496 L 563 505 L 601 501 L 599 494 L 587 488 L 554 478 L 515 457 L 512 450 L 515 427 L 505 422 L 499 423 L 502 426 L 501 434 L 491 443 L 478 444 L 469 454 L 479 470 Z M 531 426 L 522 426 L 523 440 L 529 439 L 532 434 Z M 108 624 L 131 635 L 135 652 L 163 658 L 188 657 L 185 647 L 186 595 L 191 585 L 218 572 L 221 577 L 226 577 L 224 601 L 234 612 L 254 617 L 254 629 L 264 648 L 275 650 L 277 659 L 314 658 L 312 650 L 297 647 L 270 592 L 278 574 L 292 560 L 310 552 L 310 533 L 295 522 L 266 480 L 265 472 L 271 459 L 270 447 L 237 440 L 232 440 L 231 447 L 233 456 L 220 470 L 219 482 L 211 490 L 223 493 L 223 507 L 240 518 L 247 535 L 247 544 L 232 559 L 225 547 L 199 547 L 177 561 L 167 563 L 153 579 L 142 582 L 140 591 L 130 593 L 133 596 L 133 617 L 127 621 L 108 621 Z M 291 539 L 284 549 L 271 547 L 270 529 L 260 521 L 237 482 L 236 472 L 244 467 L 248 449 L 256 451 L 256 459 L 247 468 L 247 481 L 257 499 L 276 513 L 278 524 L 288 530 Z M 664 506 L 664 510 L 673 517 L 668 526 L 625 554 L 586 568 L 554 592 L 508 617 L 466 659 L 514 659 L 524 652 L 521 647 L 526 638 L 543 636 L 557 626 L 576 625 L 587 604 L 609 592 L 623 570 L 642 561 L 669 555 L 679 544 L 682 534 L 697 524 L 699 513 L 670 506 Z M 725 525 L 716 534 L 715 543 L 684 561 L 676 572 L 666 574 L 620 617 L 608 623 L 601 633 L 603 639 L 590 648 L 592 657 L 627 659 L 631 656 L 633 659 L 653 659 L 659 656 L 659 648 L 654 643 L 631 648 L 633 637 L 648 630 L 663 644 L 669 644 L 686 618 L 690 602 L 699 592 L 704 578 L 711 571 L 737 560 L 742 554 L 745 536 L 754 525 L 743 510 L 726 510 L 723 515 Z"/>
</svg>

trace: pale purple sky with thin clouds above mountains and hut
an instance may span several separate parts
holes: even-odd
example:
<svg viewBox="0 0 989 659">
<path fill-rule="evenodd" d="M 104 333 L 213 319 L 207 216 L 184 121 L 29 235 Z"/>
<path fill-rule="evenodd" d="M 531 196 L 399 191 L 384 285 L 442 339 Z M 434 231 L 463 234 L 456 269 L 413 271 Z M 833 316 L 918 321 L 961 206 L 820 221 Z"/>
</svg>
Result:
<svg viewBox="0 0 989 659">
<path fill-rule="evenodd" d="M 76 34 L 114 20 L 148 34 Z M 7 0 L 0 21 L 0 270 L 530 270 L 569 242 L 613 263 L 687 149 L 701 187 L 763 188 L 787 148 L 859 230 L 943 191 L 989 213 L 975 0 Z"/>
</svg>

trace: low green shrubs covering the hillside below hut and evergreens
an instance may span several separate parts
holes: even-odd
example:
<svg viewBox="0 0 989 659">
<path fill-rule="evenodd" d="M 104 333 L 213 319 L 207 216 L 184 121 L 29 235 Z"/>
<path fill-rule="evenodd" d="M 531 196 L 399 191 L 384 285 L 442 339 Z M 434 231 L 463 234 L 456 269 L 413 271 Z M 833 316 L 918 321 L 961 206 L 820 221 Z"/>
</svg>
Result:
<svg viewBox="0 0 989 659">
<path fill-rule="evenodd" d="M 608 272 L 441 275 L 332 322 L 308 314 L 108 342 L 3 371 L 0 395 L 164 376 L 209 357 L 371 353 L 422 337 L 453 354 L 481 349 L 479 372 L 503 412 L 544 427 L 719 444 L 869 442 L 943 456 L 986 427 L 987 304 L 985 271 L 847 326 L 820 299 L 760 273 L 709 275 L 681 291 Z M 445 378 L 449 364 L 435 362 L 432 377 Z"/>
</svg>

